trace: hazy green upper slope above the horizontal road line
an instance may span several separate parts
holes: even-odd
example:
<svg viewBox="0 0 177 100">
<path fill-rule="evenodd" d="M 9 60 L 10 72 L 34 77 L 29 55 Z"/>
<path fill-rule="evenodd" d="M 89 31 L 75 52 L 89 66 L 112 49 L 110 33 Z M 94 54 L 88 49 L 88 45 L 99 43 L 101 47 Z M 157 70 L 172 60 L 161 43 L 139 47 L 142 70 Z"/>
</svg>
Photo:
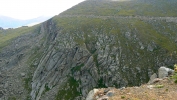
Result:
<svg viewBox="0 0 177 100">
<path fill-rule="evenodd" d="M 61 15 L 177 16 L 176 0 L 87 0 Z"/>
</svg>

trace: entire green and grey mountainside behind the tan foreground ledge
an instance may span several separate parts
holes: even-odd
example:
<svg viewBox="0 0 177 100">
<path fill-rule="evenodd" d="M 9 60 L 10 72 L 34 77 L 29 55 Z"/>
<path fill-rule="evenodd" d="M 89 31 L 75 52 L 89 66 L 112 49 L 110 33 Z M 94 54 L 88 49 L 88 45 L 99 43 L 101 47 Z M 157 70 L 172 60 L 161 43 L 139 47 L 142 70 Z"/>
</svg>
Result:
<svg viewBox="0 0 177 100">
<path fill-rule="evenodd" d="M 176 5 L 87 0 L 39 25 L 0 30 L 0 98 L 84 100 L 93 88 L 146 83 L 177 63 Z"/>
</svg>

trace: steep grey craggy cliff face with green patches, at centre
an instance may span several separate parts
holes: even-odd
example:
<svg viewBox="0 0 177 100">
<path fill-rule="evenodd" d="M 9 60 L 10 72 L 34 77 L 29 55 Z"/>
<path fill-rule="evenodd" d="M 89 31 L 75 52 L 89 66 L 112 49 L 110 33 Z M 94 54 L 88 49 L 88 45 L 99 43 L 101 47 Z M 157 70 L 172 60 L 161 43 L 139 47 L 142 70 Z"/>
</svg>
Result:
<svg viewBox="0 0 177 100">
<path fill-rule="evenodd" d="M 50 93 L 56 85 L 59 87 L 56 94 L 58 99 L 73 98 L 68 95 L 85 97 L 93 87 L 140 85 L 147 82 L 153 72 L 157 71 L 158 66 L 171 66 L 175 63 L 176 56 L 170 56 L 168 50 L 158 42 L 144 41 L 144 38 L 136 32 L 138 30 L 131 28 L 126 30 L 118 23 L 117 26 L 111 25 L 113 28 L 107 29 L 104 25 L 111 19 L 100 18 L 100 22 L 97 22 L 103 23 L 100 30 L 93 25 L 73 28 L 69 32 L 65 31 L 66 26 L 57 26 L 56 19 L 58 18 L 42 26 L 46 29 L 44 32 L 48 34 L 46 37 L 48 47 L 33 76 L 31 92 L 33 99 L 39 99 L 46 88 L 49 88 L 47 92 Z M 70 19 L 77 20 L 71 16 Z M 83 20 L 92 22 L 95 18 Z M 117 21 L 122 20 L 125 19 Z M 89 26 L 91 22 L 86 25 Z M 120 33 L 111 33 L 117 30 L 117 27 L 121 27 Z M 72 91 L 71 94 L 67 94 L 68 91 Z M 61 92 L 66 94 L 62 95 Z"/>
</svg>

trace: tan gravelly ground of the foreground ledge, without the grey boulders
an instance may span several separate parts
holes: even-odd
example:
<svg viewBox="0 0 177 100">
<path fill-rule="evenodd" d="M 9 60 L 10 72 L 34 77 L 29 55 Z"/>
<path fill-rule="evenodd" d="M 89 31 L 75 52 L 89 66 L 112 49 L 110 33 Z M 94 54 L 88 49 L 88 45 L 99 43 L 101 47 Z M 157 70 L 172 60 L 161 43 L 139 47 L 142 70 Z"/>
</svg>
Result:
<svg viewBox="0 0 177 100">
<path fill-rule="evenodd" d="M 160 84 L 160 85 L 159 85 Z M 88 100 L 126 100 L 126 99 L 137 99 L 137 100 L 152 100 L 160 99 L 163 100 L 176 100 L 177 98 L 177 84 L 172 82 L 170 78 L 164 78 L 151 85 L 143 84 L 139 87 L 126 87 L 124 89 L 110 89 L 111 95 L 104 95 L 105 88 L 98 89 L 94 94 L 93 99 Z"/>
</svg>

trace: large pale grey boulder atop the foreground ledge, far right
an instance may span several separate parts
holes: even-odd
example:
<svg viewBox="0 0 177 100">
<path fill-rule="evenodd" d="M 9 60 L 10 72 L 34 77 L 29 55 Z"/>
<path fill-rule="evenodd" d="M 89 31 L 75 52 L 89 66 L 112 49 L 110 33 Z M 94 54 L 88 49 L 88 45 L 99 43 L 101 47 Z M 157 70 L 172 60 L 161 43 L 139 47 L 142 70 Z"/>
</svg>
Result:
<svg viewBox="0 0 177 100">
<path fill-rule="evenodd" d="M 164 66 L 162 66 L 158 69 L 158 77 L 159 78 L 168 77 L 169 75 L 171 75 L 173 73 L 174 73 L 174 70 L 172 70 L 170 68 L 166 68 Z"/>
</svg>

